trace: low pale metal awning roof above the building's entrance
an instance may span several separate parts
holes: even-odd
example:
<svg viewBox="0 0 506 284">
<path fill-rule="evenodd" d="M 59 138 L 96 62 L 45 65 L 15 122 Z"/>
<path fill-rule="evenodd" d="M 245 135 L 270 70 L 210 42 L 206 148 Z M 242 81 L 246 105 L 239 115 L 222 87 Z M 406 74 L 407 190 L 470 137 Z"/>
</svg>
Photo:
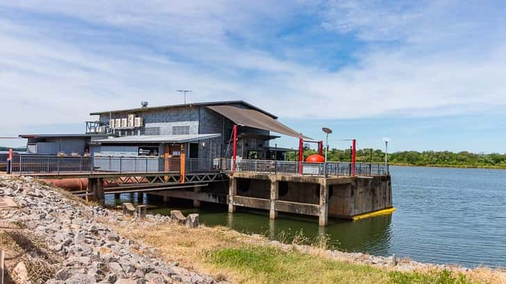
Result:
<svg viewBox="0 0 506 284">
<path fill-rule="evenodd" d="M 95 140 L 100 144 L 159 144 L 159 143 L 186 143 L 220 137 L 220 133 L 213 134 L 183 134 L 183 135 L 138 135 L 122 136 Z"/>
</svg>

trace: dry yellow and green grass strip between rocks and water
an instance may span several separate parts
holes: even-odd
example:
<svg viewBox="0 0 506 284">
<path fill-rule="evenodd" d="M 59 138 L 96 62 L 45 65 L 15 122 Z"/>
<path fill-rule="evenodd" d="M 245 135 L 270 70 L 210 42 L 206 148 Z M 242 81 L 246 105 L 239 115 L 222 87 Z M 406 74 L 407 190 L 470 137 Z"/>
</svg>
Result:
<svg viewBox="0 0 506 284">
<path fill-rule="evenodd" d="M 125 225 L 99 221 L 131 240 L 154 247 L 156 256 L 162 260 L 175 260 L 183 267 L 232 283 L 506 283 L 504 272 L 486 267 L 469 270 L 464 276 L 458 269 L 398 272 L 395 267 L 379 268 L 331 258 L 325 251 L 329 246 L 325 236 L 311 240 L 311 247 L 302 251 L 297 246 L 275 247 L 263 237 L 244 235 L 221 226 L 190 229 L 174 223 Z M 291 242 L 307 243 L 308 240 L 299 235 Z"/>
</svg>

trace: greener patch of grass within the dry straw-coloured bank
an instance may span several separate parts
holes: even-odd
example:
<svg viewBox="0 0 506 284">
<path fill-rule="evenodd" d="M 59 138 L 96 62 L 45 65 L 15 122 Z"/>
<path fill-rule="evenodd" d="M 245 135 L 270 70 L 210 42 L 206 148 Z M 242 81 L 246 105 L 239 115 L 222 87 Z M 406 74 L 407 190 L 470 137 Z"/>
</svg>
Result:
<svg viewBox="0 0 506 284">
<path fill-rule="evenodd" d="M 387 272 L 368 265 L 330 260 L 299 251 L 252 245 L 209 251 L 207 262 L 238 283 L 436 283 L 471 284 L 450 272 L 419 274 Z"/>
</svg>

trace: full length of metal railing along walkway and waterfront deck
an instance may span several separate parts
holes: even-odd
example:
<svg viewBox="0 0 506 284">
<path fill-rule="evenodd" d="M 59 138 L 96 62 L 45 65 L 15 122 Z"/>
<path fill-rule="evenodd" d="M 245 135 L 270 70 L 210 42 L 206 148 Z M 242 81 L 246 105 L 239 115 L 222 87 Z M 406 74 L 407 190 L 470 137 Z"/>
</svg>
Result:
<svg viewBox="0 0 506 284">
<path fill-rule="evenodd" d="M 184 161 L 185 172 L 255 172 L 302 176 L 379 176 L 389 173 L 382 163 L 296 162 L 275 160 L 245 160 L 230 158 Z M 158 157 L 68 157 L 18 155 L 12 162 L 13 174 L 84 173 L 84 172 L 181 172 L 179 158 Z"/>
</svg>

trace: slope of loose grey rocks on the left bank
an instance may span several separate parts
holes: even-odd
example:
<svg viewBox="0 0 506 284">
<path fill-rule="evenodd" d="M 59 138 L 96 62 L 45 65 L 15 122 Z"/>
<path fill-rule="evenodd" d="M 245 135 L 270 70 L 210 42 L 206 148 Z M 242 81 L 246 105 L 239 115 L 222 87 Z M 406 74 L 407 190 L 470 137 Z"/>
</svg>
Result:
<svg viewBox="0 0 506 284">
<path fill-rule="evenodd" d="M 177 262 L 158 260 L 154 249 L 94 221 L 117 213 L 86 206 L 32 178 L 0 176 L 0 189 L 19 206 L 2 211 L 3 222 L 31 231 L 61 258 L 52 264 L 51 270 L 56 272 L 52 278 L 42 281 L 18 275 L 25 283 L 219 283 L 211 276 L 179 267 Z M 37 258 L 37 253 L 35 250 L 30 254 Z"/>
</svg>

